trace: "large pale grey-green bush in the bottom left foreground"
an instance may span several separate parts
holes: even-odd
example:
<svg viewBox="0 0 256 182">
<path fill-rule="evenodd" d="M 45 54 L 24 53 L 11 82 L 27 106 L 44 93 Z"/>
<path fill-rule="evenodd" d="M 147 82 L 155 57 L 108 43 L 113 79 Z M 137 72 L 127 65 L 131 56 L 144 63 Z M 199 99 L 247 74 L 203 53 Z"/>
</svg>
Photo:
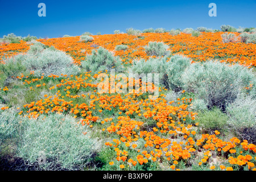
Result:
<svg viewBox="0 0 256 182">
<path fill-rule="evenodd" d="M 24 118 L 22 127 L 22 139 L 16 155 L 35 169 L 83 169 L 100 147 L 96 139 L 90 138 L 84 126 L 63 114 Z M 45 155 L 46 161 L 39 162 L 42 155 Z"/>
</svg>

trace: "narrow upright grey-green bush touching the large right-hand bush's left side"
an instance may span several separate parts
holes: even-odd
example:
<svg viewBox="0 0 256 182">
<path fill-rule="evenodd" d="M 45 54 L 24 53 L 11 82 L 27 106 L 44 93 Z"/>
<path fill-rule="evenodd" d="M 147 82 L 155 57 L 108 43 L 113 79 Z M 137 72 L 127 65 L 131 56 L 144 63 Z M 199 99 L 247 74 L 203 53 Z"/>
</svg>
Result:
<svg viewBox="0 0 256 182">
<path fill-rule="evenodd" d="M 189 65 L 191 60 L 181 55 L 174 55 L 170 59 L 168 67 L 168 85 L 175 92 L 180 91 L 183 88 L 183 82 L 181 76 Z"/>
</svg>

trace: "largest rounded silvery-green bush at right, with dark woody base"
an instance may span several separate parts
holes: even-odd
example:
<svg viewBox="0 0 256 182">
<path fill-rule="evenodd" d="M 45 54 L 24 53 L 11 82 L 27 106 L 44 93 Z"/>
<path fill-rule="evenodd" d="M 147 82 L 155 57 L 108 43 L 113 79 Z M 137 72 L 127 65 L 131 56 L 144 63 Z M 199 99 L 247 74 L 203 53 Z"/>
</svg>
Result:
<svg viewBox="0 0 256 182">
<path fill-rule="evenodd" d="M 238 94 L 246 92 L 255 77 L 241 65 L 227 65 L 207 61 L 194 63 L 185 69 L 181 79 L 184 88 L 196 93 L 208 107 L 218 106 L 225 110 L 227 103 L 236 100 Z"/>
</svg>

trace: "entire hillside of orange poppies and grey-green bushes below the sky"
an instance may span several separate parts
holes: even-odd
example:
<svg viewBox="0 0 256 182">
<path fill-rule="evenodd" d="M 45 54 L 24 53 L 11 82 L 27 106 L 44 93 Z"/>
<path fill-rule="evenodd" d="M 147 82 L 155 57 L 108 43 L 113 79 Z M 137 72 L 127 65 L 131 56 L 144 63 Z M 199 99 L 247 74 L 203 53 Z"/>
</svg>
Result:
<svg viewBox="0 0 256 182">
<path fill-rule="evenodd" d="M 130 28 L 0 42 L 0 168 L 256 171 L 255 35 Z"/>
</svg>

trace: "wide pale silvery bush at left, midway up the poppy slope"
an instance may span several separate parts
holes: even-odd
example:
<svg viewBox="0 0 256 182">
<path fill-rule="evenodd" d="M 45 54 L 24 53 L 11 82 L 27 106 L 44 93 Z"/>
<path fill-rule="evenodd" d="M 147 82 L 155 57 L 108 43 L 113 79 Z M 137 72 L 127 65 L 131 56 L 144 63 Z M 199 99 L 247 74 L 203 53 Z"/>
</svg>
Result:
<svg viewBox="0 0 256 182">
<path fill-rule="evenodd" d="M 37 55 L 28 54 L 23 61 L 28 70 L 34 71 L 35 76 L 49 75 L 77 75 L 79 68 L 73 64 L 71 56 L 65 52 L 44 49 Z"/>
</svg>

